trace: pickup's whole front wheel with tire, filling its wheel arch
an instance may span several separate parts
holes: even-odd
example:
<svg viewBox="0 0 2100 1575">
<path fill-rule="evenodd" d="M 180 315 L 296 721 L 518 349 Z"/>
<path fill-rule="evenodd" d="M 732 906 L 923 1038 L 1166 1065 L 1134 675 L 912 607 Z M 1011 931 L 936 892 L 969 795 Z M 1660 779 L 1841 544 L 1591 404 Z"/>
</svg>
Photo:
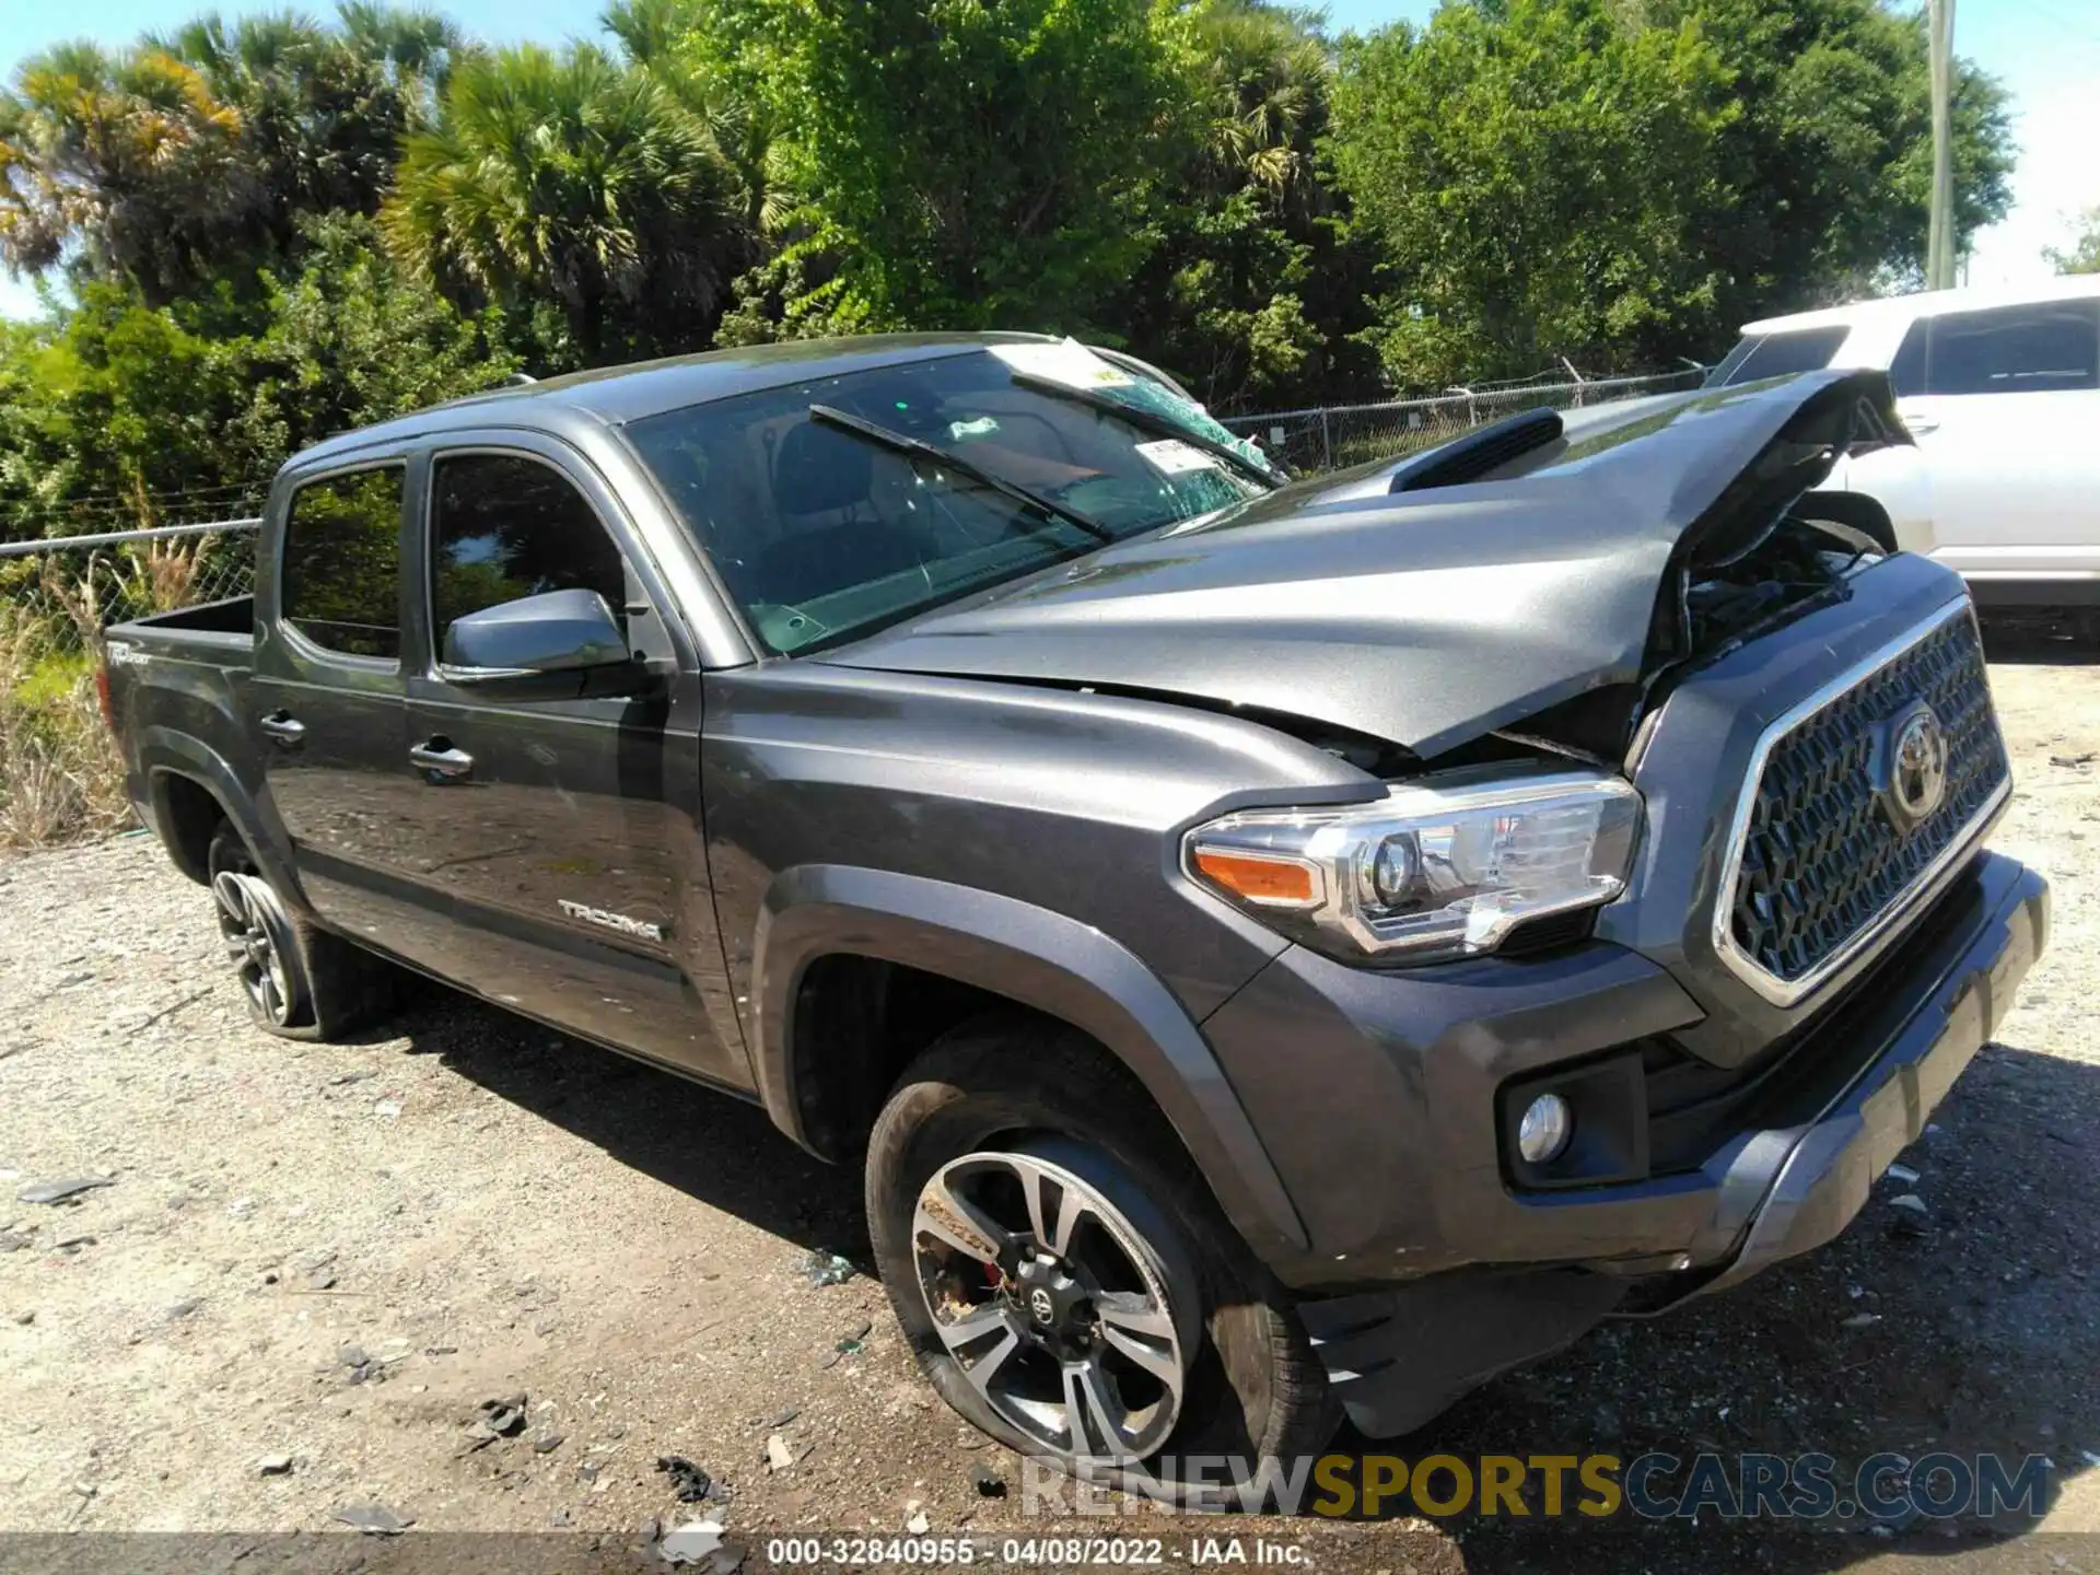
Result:
<svg viewBox="0 0 2100 1575">
<path fill-rule="evenodd" d="M 1021 1453 L 1233 1504 L 1216 1462 L 1208 1491 L 1180 1464 L 1237 1478 L 1334 1436 L 1287 1294 L 1144 1088 L 1065 1025 L 981 1018 L 905 1071 L 869 1136 L 867 1224 L 934 1388 Z"/>
</svg>

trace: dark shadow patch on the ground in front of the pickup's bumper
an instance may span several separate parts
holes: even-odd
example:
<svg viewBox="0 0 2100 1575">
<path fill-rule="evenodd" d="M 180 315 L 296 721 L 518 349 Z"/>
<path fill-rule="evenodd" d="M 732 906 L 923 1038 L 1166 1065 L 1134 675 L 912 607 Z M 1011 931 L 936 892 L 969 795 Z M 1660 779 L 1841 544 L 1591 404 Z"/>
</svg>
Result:
<svg viewBox="0 0 2100 1575">
<path fill-rule="evenodd" d="M 1835 1457 L 1838 1495 L 1852 1497 L 1869 1455 L 2001 1455 L 2018 1472 L 2050 1460 L 2050 1502 L 2090 1506 L 2100 1464 L 2100 1067 L 1987 1046 L 1898 1163 L 1915 1182 L 1884 1178 L 1873 1201 L 1829 1247 L 1760 1279 L 1655 1319 L 1609 1323 L 1575 1348 L 1508 1373 L 1407 1438 L 1346 1432 L 1342 1453 L 1594 1455 L 1680 1462 L 1657 1480 L 1682 1493 L 1693 1457 L 1720 1455 L 1730 1478 L 1745 1453 Z M 1896 1208 L 1911 1195 L 1924 1214 Z M 1352 1472 L 1361 1480 L 1361 1466 Z M 1533 1483 L 1537 1476 L 1533 1474 Z M 1573 1476 L 1569 1502 L 1575 1499 Z M 1449 1491 L 1443 1485 L 1438 1491 Z M 2020 1533 L 2001 1514 L 1898 1518 L 1882 1533 L 1823 1525 L 1552 1522 L 1508 1514 L 1455 1516 L 1468 1569 L 1846 1569 L 1886 1554 L 1966 1554 L 1984 1569 L 2062 1569 L 2043 1554 L 2100 1548 L 2100 1537 Z M 2092 1510 L 2075 1516 L 2100 1529 Z M 1890 1535 L 1892 1533 L 1892 1535 Z M 2075 1558 L 2079 1567 L 2092 1560 Z"/>
</svg>

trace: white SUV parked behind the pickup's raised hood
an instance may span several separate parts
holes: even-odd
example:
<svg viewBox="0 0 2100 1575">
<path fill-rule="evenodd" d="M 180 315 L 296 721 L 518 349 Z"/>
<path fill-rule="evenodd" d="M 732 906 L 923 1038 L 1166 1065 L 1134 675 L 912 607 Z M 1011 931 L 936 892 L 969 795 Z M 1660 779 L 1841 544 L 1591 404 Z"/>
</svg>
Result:
<svg viewBox="0 0 2100 1575">
<path fill-rule="evenodd" d="M 1814 368 L 1888 372 L 1922 456 L 1863 454 L 1831 487 L 1875 498 L 1980 603 L 2100 607 L 2100 275 L 1768 317 L 1707 386 Z"/>
</svg>

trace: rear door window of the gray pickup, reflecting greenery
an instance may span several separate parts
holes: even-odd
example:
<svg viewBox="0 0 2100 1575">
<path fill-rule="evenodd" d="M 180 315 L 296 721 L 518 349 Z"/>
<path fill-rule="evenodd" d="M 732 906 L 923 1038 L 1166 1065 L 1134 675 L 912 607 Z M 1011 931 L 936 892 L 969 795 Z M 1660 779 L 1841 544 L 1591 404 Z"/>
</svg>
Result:
<svg viewBox="0 0 2100 1575">
<path fill-rule="evenodd" d="M 284 622 L 323 651 L 401 659 L 399 464 L 309 481 L 284 521 Z"/>
</svg>

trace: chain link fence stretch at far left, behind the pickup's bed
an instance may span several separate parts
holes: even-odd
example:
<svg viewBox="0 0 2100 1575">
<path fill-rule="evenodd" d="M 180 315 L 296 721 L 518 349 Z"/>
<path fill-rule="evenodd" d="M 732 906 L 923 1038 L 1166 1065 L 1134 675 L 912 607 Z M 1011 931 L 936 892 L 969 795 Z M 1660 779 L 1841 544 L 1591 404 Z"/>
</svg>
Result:
<svg viewBox="0 0 2100 1575">
<path fill-rule="evenodd" d="M 0 609 L 46 655 L 101 655 L 103 630 L 130 617 L 246 596 L 256 519 L 145 531 L 0 542 Z"/>
</svg>

